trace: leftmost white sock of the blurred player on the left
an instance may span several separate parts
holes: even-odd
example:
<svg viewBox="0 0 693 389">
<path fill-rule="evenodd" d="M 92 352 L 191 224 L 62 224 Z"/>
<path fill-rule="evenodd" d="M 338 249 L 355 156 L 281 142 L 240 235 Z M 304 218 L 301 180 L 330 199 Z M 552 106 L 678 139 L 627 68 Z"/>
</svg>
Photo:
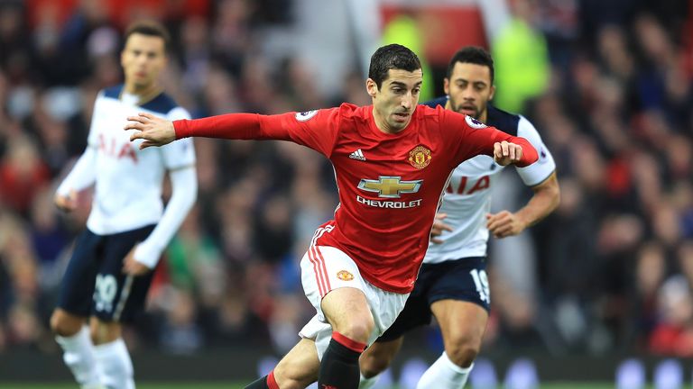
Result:
<svg viewBox="0 0 693 389">
<path fill-rule="evenodd" d="M 70 337 L 55 337 L 62 348 L 62 360 L 72 371 L 75 381 L 81 386 L 97 386 L 100 384 L 98 365 L 94 356 L 94 345 L 89 337 L 88 327 L 84 326 L 78 333 Z"/>
</svg>

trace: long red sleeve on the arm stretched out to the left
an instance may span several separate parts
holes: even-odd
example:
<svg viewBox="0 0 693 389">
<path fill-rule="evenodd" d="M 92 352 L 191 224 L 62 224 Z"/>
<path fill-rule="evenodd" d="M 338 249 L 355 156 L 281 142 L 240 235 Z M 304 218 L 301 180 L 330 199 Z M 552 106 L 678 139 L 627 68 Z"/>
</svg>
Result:
<svg viewBox="0 0 693 389">
<path fill-rule="evenodd" d="M 290 140 L 330 157 L 337 141 L 339 108 L 304 113 L 261 115 L 227 113 L 173 122 L 176 139 L 195 137 L 233 140 Z"/>
</svg>

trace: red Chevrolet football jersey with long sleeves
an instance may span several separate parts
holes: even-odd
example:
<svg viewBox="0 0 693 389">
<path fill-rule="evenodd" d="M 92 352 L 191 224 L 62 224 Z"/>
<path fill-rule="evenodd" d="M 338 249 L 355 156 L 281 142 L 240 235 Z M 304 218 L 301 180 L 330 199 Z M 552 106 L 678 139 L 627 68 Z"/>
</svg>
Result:
<svg viewBox="0 0 693 389">
<path fill-rule="evenodd" d="M 502 140 L 522 145 L 519 166 L 537 160 L 527 140 L 425 105 L 396 134 L 378 130 L 372 105 L 352 104 L 271 116 L 231 113 L 174 127 L 177 138 L 291 140 L 329 158 L 340 204 L 316 244 L 346 252 L 368 282 L 395 293 L 413 288 L 454 167 L 478 154 L 493 156 L 494 142 Z"/>
</svg>

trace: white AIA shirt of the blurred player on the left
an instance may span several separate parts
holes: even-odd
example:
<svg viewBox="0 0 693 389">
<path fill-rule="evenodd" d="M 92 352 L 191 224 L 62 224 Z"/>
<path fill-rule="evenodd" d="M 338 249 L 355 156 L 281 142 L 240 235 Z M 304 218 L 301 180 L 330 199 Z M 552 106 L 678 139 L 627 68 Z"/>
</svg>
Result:
<svg viewBox="0 0 693 389">
<path fill-rule="evenodd" d="M 152 113 L 168 120 L 189 119 L 189 113 L 164 93 L 148 102 L 123 95 L 123 86 L 97 96 L 89 129 L 88 147 L 97 150 L 96 186 L 90 231 L 99 235 L 130 231 L 155 224 L 162 218 L 162 183 L 166 170 L 191 167 L 195 149 L 191 139 L 140 150 L 143 140 L 130 141 L 126 118 Z"/>
</svg>

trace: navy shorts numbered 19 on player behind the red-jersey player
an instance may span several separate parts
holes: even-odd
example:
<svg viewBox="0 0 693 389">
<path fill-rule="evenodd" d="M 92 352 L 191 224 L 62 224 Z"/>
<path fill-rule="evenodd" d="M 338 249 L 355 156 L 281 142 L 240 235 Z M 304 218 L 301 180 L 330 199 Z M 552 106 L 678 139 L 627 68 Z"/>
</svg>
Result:
<svg viewBox="0 0 693 389">
<path fill-rule="evenodd" d="M 491 295 L 486 276 L 486 258 L 473 257 L 423 264 L 414 289 L 397 320 L 375 341 L 390 341 L 420 326 L 430 324 L 430 304 L 439 300 L 476 303 L 487 312 Z"/>
</svg>

